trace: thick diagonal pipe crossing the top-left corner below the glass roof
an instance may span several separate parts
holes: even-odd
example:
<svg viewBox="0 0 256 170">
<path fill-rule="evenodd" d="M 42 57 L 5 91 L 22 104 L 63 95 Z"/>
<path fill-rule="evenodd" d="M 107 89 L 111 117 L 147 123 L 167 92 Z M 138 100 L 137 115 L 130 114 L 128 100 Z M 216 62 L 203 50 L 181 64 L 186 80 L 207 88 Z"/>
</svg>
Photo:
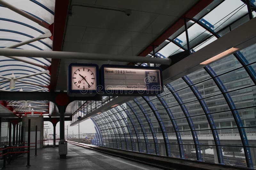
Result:
<svg viewBox="0 0 256 170">
<path fill-rule="evenodd" d="M 10 10 L 22 15 L 23 17 L 26 17 L 34 22 L 36 22 L 37 24 L 43 26 L 44 28 L 47 28 L 49 27 L 49 24 L 45 23 L 44 21 L 41 21 L 40 19 L 37 19 L 36 17 L 33 17 L 32 15 L 28 14 L 27 12 L 24 12 L 22 10 L 20 10 L 19 8 L 3 1 L 3 0 L 0 0 L 0 4 L 2 4 L 3 6 L 5 6 L 6 8 L 9 8 Z"/>
</svg>

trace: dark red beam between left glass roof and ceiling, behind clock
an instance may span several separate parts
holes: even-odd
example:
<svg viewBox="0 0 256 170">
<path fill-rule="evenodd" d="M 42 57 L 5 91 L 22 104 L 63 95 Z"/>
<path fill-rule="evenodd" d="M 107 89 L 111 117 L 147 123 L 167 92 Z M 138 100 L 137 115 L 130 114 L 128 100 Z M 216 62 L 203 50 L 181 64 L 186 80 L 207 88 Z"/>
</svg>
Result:
<svg viewBox="0 0 256 170">
<path fill-rule="evenodd" d="M 68 4 L 69 0 L 55 1 L 52 51 L 61 51 L 68 13 Z M 52 59 L 52 64 L 48 68 L 51 74 L 51 81 L 49 85 L 50 91 L 54 91 L 56 88 L 59 62 L 59 59 Z"/>
</svg>

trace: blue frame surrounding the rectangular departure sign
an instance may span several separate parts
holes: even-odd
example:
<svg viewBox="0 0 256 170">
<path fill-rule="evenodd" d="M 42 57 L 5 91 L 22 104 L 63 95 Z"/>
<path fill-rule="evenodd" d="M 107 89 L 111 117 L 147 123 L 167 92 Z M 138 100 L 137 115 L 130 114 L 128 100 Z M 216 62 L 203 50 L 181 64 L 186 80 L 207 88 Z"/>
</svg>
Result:
<svg viewBox="0 0 256 170">
<path fill-rule="evenodd" d="M 136 69 L 157 69 L 159 70 L 160 76 L 157 75 L 157 79 L 161 83 L 161 90 L 156 91 L 149 91 L 149 90 L 115 90 L 115 93 L 111 90 L 105 89 L 105 80 L 104 80 L 104 67 L 118 67 L 118 68 L 136 68 Z M 162 69 L 160 67 L 148 67 L 148 66 L 127 66 L 127 65 L 113 65 L 113 64 L 103 64 L 100 67 L 100 73 L 101 73 L 101 85 L 102 85 L 102 92 L 104 92 L 106 95 L 113 95 L 113 96 L 155 96 L 158 94 L 163 93 L 164 87 L 163 87 L 163 77 L 162 77 Z M 146 71 L 146 76 L 148 72 Z M 158 83 L 150 83 L 148 84 L 149 87 L 152 87 L 154 85 L 158 85 Z"/>
</svg>

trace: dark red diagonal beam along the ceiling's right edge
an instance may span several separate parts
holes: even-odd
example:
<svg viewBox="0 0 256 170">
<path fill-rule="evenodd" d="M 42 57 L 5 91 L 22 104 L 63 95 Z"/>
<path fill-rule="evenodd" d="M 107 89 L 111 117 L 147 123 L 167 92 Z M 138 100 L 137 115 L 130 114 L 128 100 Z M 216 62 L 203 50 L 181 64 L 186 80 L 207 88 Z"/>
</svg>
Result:
<svg viewBox="0 0 256 170">
<path fill-rule="evenodd" d="M 211 4 L 213 0 L 201 0 L 196 5 L 194 5 L 188 12 L 186 12 L 178 21 L 176 21 L 172 26 L 170 26 L 162 35 L 160 35 L 155 41 L 153 41 L 146 49 L 144 49 L 139 56 L 145 57 L 153 50 L 154 46 L 159 46 L 167 38 L 169 38 L 173 33 L 178 31 L 184 25 L 183 18 L 193 18 L 196 14 L 202 11 L 207 5 Z"/>
</svg>

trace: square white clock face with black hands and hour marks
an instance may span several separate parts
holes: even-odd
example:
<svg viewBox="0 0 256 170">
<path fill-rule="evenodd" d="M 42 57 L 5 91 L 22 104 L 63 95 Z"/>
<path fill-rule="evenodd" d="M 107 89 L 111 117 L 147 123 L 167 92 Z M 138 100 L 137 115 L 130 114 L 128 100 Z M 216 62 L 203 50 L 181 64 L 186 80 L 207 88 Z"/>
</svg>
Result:
<svg viewBox="0 0 256 170">
<path fill-rule="evenodd" d="M 72 90 L 96 90 L 96 67 L 72 66 Z"/>
</svg>

